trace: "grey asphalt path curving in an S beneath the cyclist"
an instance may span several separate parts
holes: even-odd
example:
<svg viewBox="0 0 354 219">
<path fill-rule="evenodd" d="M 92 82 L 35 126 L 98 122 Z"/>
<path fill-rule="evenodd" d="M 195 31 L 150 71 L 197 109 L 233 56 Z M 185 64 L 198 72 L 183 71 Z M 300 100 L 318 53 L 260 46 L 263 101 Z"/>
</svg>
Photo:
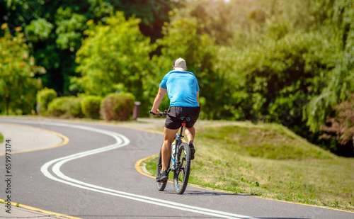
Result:
<svg viewBox="0 0 354 219">
<path fill-rule="evenodd" d="M 139 159 L 159 152 L 158 133 L 49 120 L 0 118 L 0 123 L 32 125 L 69 138 L 61 147 L 12 155 L 12 200 L 26 206 L 88 219 L 354 218 L 354 213 L 342 210 L 192 186 L 183 195 L 174 193 L 173 184 L 159 192 L 154 179 L 135 169 Z M 0 157 L 2 179 L 4 159 Z M 0 188 L 5 186 L 1 180 Z M 5 196 L 2 190 L 0 198 Z"/>
</svg>

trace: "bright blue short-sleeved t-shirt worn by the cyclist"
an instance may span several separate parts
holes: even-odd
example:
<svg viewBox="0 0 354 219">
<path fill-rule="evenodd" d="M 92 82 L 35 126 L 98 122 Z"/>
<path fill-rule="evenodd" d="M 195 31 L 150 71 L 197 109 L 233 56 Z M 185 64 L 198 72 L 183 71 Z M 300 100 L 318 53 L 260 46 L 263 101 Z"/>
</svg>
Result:
<svg viewBox="0 0 354 219">
<path fill-rule="evenodd" d="M 165 75 L 160 86 L 167 90 L 170 106 L 199 106 L 197 101 L 199 85 L 192 72 L 172 70 Z"/>
</svg>

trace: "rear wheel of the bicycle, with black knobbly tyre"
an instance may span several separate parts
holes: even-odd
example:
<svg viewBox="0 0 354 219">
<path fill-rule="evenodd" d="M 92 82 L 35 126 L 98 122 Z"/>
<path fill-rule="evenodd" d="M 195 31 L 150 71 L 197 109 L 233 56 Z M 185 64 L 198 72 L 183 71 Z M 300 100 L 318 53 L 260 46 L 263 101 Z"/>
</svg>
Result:
<svg viewBox="0 0 354 219">
<path fill-rule="evenodd" d="M 190 148 L 183 142 L 178 147 L 176 169 L 173 174 L 173 184 L 176 193 L 183 194 L 187 188 L 190 174 Z"/>
</svg>

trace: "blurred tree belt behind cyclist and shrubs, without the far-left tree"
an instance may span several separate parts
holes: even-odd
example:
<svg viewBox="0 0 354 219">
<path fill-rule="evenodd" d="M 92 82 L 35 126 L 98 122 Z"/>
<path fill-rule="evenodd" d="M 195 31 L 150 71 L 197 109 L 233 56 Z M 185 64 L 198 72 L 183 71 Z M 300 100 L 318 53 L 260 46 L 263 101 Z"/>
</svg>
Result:
<svg viewBox="0 0 354 219">
<path fill-rule="evenodd" d="M 354 156 L 353 1 L 8 0 L 0 12 L 1 37 L 22 28 L 47 70 L 33 79 L 59 96 L 120 90 L 148 111 L 183 57 L 200 84 L 201 118 L 282 123 Z"/>
</svg>

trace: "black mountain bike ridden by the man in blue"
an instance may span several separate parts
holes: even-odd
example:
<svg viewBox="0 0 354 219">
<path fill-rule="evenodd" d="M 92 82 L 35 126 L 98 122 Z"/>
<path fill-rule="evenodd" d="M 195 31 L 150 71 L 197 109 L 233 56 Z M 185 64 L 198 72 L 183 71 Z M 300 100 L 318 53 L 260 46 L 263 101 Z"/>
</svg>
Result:
<svg viewBox="0 0 354 219">
<path fill-rule="evenodd" d="M 166 111 L 162 114 L 154 115 L 166 116 Z M 185 189 L 187 188 L 189 174 L 190 174 L 190 147 L 187 143 L 182 142 L 183 130 L 185 127 L 185 123 L 190 120 L 189 117 L 181 117 L 181 130 L 180 133 L 176 133 L 176 137 L 171 144 L 171 157 L 167 164 L 167 173 L 173 172 L 173 187 L 176 193 L 183 194 Z M 157 159 L 157 168 L 156 174 L 161 172 L 162 162 L 161 162 L 161 150 L 159 154 L 159 159 Z M 157 182 L 157 190 L 164 191 L 166 188 L 167 181 L 158 181 Z"/>
</svg>

